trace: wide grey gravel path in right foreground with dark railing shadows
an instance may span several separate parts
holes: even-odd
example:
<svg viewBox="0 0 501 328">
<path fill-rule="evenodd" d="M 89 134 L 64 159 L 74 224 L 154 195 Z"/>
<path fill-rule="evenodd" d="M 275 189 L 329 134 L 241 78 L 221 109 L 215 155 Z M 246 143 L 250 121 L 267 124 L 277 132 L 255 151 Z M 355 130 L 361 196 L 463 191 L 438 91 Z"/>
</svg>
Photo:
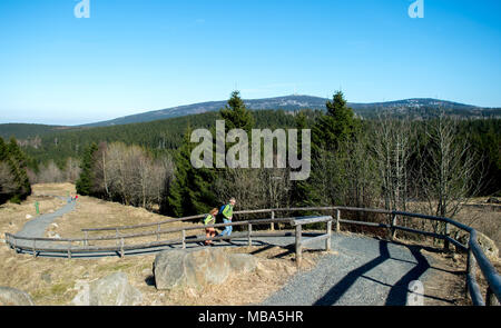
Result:
<svg viewBox="0 0 501 328">
<path fill-rule="evenodd" d="M 419 279 L 425 286 L 435 274 L 434 260 L 419 249 L 334 233 L 333 254 L 323 256 L 312 270 L 299 271 L 262 305 L 405 305 L 409 284 Z"/>
</svg>

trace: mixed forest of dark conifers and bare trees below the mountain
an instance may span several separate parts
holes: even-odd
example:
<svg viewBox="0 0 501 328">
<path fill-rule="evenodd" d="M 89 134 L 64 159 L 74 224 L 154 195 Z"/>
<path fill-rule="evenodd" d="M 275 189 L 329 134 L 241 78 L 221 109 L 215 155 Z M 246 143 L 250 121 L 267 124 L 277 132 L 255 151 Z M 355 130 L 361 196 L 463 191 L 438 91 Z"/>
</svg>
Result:
<svg viewBox="0 0 501 328">
<path fill-rule="evenodd" d="M 291 181 L 291 168 L 193 168 L 190 132 L 214 131 L 218 119 L 249 137 L 253 128 L 311 129 L 310 179 Z M 16 143 L 26 152 L 22 158 Z M 18 169 L 13 161 L 21 163 Z M 420 200 L 430 203 L 429 213 L 453 217 L 470 197 L 500 195 L 501 120 L 440 110 L 426 120 L 362 119 L 342 92 L 326 102 L 325 111 L 248 110 L 235 91 L 218 112 L 2 141 L 1 162 L 11 178 L 19 175 L 18 185 L 2 180 L 2 186 L 18 186 L 20 197 L 29 181 L 72 181 L 80 195 L 177 217 L 207 212 L 229 197 L 238 199 L 240 209 L 340 205 L 405 210 Z M 29 177 L 28 185 L 21 176 Z M 12 195 L 3 189 L 2 195 Z"/>
</svg>

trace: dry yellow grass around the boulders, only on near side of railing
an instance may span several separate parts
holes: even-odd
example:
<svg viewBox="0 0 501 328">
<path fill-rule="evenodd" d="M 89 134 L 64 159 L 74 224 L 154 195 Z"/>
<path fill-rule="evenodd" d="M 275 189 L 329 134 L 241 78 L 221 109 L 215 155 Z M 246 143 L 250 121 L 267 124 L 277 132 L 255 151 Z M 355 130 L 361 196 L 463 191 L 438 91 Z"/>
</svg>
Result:
<svg viewBox="0 0 501 328">
<path fill-rule="evenodd" d="M 253 252 L 257 247 L 228 249 L 232 252 Z M 264 300 L 283 287 L 297 271 L 292 255 L 276 258 L 287 250 L 278 247 L 256 254 L 258 268 L 252 274 L 232 276 L 220 286 L 202 290 L 158 291 L 153 284 L 155 255 L 131 256 L 124 259 L 33 258 L 16 255 L 6 245 L 0 247 L 0 286 L 27 291 L 36 305 L 70 305 L 81 284 L 88 284 L 116 271 L 126 272 L 129 282 L 144 296 L 145 306 L 154 305 L 250 305 Z M 313 268 L 320 254 L 304 254 L 302 270 Z"/>
</svg>

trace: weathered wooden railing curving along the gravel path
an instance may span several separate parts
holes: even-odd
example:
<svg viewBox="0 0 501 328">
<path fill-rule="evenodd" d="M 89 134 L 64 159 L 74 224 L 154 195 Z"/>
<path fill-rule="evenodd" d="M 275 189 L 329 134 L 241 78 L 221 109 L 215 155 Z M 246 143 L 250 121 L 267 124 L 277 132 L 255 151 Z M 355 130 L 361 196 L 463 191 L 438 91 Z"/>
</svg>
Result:
<svg viewBox="0 0 501 328">
<path fill-rule="evenodd" d="M 248 245 L 252 245 L 252 238 L 253 237 L 282 237 L 282 236 L 295 236 L 296 237 L 296 259 L 298 259 L 298 262 L 301 262 L 301 248 L 305 245 L 305 242 L 302 242 L 301 239 L 301 227 L 304 223 L 311 223 L 303 221 L 301 222 L 301 219 L 305 219 L 305 217 L 291 217 L 291 218 L 275 218 L 275 213 L 277 212 L 301 212 L 301 211 L 307 211 L 307 212 L 323 212 L 323 211 L 330 211 L 332 213 L 335 213 L 331 219 L 325 219 L 324 221 L 327 222 L 327 230 L 331 231 L 331 223 L 335 223 L 335 230 L 338 232 L 341 230 L 341 223 L 350 223 L 350 225 L 361 225 L 361 226 L 370 226 L 370 227 L 377 227 L 387 229 L 390 232 L 390 238 L 395 238 L 395 233 L 397 230 L 412 232 L 412 233 L 419 233 L 432 238 L 438 238 L 444 240 L 444 248 L 449 249 L 450 243 L 454 245 L 458 249 L 468 252 L 468 261 L 466 261 L 466 284 L 465 287 L 469 291 L 469 295 L 472 299 L 473 305 L 493 305 L 499 304 L 501 301 L 501 278 L 499 274 L 497 272 L 495 268 L 492 266 L 492 264 L 489 261 L 489 259 L 483 254 L 482 249 L 480 248 L 480 245 L 477 240 L 477 231 L 465 225 L 462 225 L 460 222 L 456 222 L 454 220 L 451 220 L 449 218 L 442 218 L 442 217 L 433 217 L 433 216 L 426 216 L 426 215 L 419 215 L 419 213 L 411 213 L 411 212 L 403 212 L 403 211 L 390 211 L 390 210 L 383 210 L 383 209 L 366 209 L 366 208 L 353 208 L 353 207 L 308 207 L 308 208 L 276 208 L 276 209 L 259 209 L 259 210 L 244 210 L 244 211 L 235 211 L 234 215 L 242 216 L 242 215 L 258 215 L 258 213 L 271 213 L 271 218 L 266 219 L 254 219 L 254 220 L 240 220 L 240 221 L 234 221 L 230 223 L 216 223 L 210 226 L 204 226 L 204 225 L 194 225 L 194 226 L 186 226 L 186 227 L 179 227 L 179 228 L 170 228 L 170 229 L 163 229 L 161 227 L 166 223 L 170 222 L 183 222 L 183 221 L 190 221 L 190 220 L 199 220 L 204 218 L 204 215 L 199 216 L 191 216 L 191 217 L 185 217 L 185 218 L 175 218 L 175 219 L 167 219 L 159 222 L 153 222 L 153 223 L 145 223 L 145 225 L 136 225 L 136 226 L 117 226 L 117 227 L 105 227 L 105 228 L 88 228 L 82 229 L 85 237 L 84 238 L 76 238 L 76 239 L 53 239 L 53 238 L 30 238 L 30 237 L 20 237 L 14 236 L 11 233 L 6 233 L 6 242 L 17 251 L 24 251 L 24 252 L 31 252 L 33 256 L 38 256 L 41 252 L 48 252 L 48 254 L 66 254 L 68 258 L 71 258 L 71 255 L 80 254 L 80 252 L 87 252 L 87 254 L 96 254 L 96 252 L 116 252 L 120 255 L 120 257 L 124 257 L 126 255 L 126 251 L 138 251 L 138 250 L 146 250 L 151 249 L 156 247 L 163 247 L 163 246 L 174 246 L 174 245 L 181 245 L 183 248 L 186 247 L 186 243 L 189 242 L 202 242 L 206 240 L 230 240 L 234 238 L 247 238 Z M 391 220 L 390 223 L 383 223 L 383 222 L 366 222 L 366 221 L 356 221 L 356 220 L 347 220 L 341 218 L 341 211 L 354 211 L 354 212 L 371 212 L 371 213 L 382 213 L 387 215 Z M 436 233 L 432 231 L 424 231 L 419 229 L 413 229 L 410 227 L 403 227 L 397 225 L 399 217 L 407 217 L 407 218 L 416 218 L 416 219 L 424 219 L 424 220 L 431 220 L 431 221 L 441 221 L 445 223 L 445 230 L 444 233 Z M 310 217 L 311 218 L 311 217 Z M 318 220 L 317 220 L 318 221 Z M 296 227 L 296 233 L 293 235 L 292 232 L 256 232 L 253 231 L 253 225 L 266 225 L 266 223 L 277 223 L 277 222 L 284 222 L 289 223 L 292 226 Z M 205 238 L 205 237 L 198 237 L 195 236 L 195 238 L 189 238 L 186 236 L 186 231 L 189 230 L 204 230 L 205 228 L 223 228 L 227 226 L 247 226 L 247 232 L 240 232 L 240 233 L 233 233 L 230 237 L 224 236 L 224 237 L 213 237 L 213 238 Z M 460 241 L 451 238 L 450 233 L 450 226 L 454 226 L 460 230 L 463 230 L 470 235 L 470 239 L 468 245 L 463 245 Z M 148 227 L 156 227 L 153 231 L 147 232 L 140 232 L 140 233 L 124 233 L 127 230 L 130 229 L 139 229 L 139 228 L 148 228 Z M 299 227 L 299 228 L 298 228 Z M 298 232 L 299 230 L 299 232 Z M 110 236 L 99 236 L 99 237 L 89 237 L 89 232 L 95 231 L 115 231 L 115 235 Z M 327 233 L 330 233 L 327 231 Z M 173 240 L 161 240 L 160 236 L 165 233 L 173 233 L 173 232 L 181 232 L 180 239 L 173 239 Z M 134 239 L 134 238 L 140 238 L 140 237 L 156 237 L 156 241 L 150 242 L 144 242 L 144 243 L 126 243 L 127 239 Z M 325 235 L 318 236 L 318 238 L 324 238 Z M 315 238 L 312 238 L 315 239 Z M 90 246 L 89 242 L 92 241 L 102 241 L 102 240 L 115 240 L 116 243 L 112 246 Z M 307 242 L 307 241 L 306 241 Z M 37 247 L 38 243 L 38 247 Z M 55 247 L 53 245 L 58 245 L 58 247 Z M 75 243 L 79 243 L 75 246 Z M 50 246 L 48 246 L 50 245 Z M 327 245 L 327 243 L 326 243 Z M 328 246 L 326 246 L 327 248 Z M 299 254 L 299 256 L 298 256 Z M 482 297 L 482 294 L 480 291 L 480 287 L 477 282 L 477 267 L 480 268 L 483 277 L 485 278 L 488 282 L 488 288 L 485 292 L 485 300 Z"/>
</svg>

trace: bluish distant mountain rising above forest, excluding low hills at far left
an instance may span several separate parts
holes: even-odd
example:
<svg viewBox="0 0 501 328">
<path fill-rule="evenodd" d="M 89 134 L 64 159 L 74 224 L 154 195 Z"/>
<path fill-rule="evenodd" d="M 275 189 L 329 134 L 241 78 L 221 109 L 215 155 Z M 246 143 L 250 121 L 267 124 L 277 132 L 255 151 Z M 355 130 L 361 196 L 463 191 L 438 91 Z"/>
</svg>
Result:
<svg viewBox="0 0 501 328">
<path fill-rule="evenodd" d="M 287 111 L 294 111 L 306 108 L 325 110 L 325 102 L 328 99 L 326 98 L 312 96 L 285 96 L 265 99 L 247 99 L 244 101 L 247 108 L 253 110 L 282 109 Z M 225 107 L 226 103 L 227 103 L 226 100 L 222 100 L 222 101 L 209 101 L 209 102 L 178 106 L 167 109 L 120 117 L 112 120 L 84 125 L 81 127 L 107 127 L 107 126 L 118 126 L 137 122 L 149 122 L 194 113 L 217 111 L 223 107 Z M 459 115 L 462 117 L 481 118 L 485 116 L 488 117 L 501 116 L 500 109 L 484 109 L 471 105 L 429 98 L 415 98 L 415 99 L 405 99 L 386 102 L 372 102 L 372 103 L 350 102 L 348 106 L 353 108 L 356 115 L 365 118 L 375 117 L 377 116 L 377 113 L 382 112 L 389 112 L 392 116 L 410 116 L 411 118 L 426 118 L 433 111 L 436 112 L 436 110 L 440 108 L 443 108 L 450 115 Z"/>
</svg>

